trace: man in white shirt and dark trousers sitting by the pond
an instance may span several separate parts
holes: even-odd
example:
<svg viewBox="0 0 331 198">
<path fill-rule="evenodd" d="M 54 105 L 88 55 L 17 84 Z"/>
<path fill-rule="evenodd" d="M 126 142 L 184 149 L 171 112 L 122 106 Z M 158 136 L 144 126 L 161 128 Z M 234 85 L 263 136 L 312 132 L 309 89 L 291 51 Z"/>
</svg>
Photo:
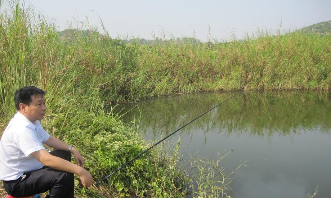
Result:
<svg viewBox="0 0 331 198">
<path fill-rule="evenodd" d="M 17 113 L 0 140 L 0 180 L 13 197 L 49 190 L 50 198 L 72 198 L 74 178 L 84 187 L 93 183 L 77 149 L 49 135 L 38 120 L 45 116 L 45 91 L 26 86 L 15 93 Z M 56 149 L 48 152 L 42 143 Z M 71 153 L 77 165 L 71 163 Z"/>
</svg>

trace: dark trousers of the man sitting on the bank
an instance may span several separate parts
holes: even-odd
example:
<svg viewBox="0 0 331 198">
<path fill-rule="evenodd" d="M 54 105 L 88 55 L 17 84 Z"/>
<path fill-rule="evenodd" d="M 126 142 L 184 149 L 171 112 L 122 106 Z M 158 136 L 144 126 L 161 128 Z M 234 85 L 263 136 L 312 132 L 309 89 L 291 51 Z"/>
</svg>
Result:
<svg viewBox="0 0 331 198">
<path fill-rule="evenodd" d="M 68 151 L 54 150 L 50 154 L 71 161 L 71 153 Z M 73 198 L 72 173 L 44 166 L 41 169 L 26 172 L 24 175 L 17 180 L 3 181 L 9 195 L 25 197 L 49 190 L 50 198 Z"/>
</svg>

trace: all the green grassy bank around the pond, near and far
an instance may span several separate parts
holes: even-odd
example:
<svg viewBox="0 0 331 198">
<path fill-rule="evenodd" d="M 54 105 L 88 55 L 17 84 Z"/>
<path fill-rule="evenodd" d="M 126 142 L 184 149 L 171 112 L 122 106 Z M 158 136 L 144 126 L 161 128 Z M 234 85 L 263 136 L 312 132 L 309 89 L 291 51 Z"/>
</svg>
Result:
<svg viewBox="0 0 331 198">
<path fill-rule="evenodd" d="M 19 87 L 46 90 L 43 126 L 82 151 L 96 181 L 147 148 L 135 129 L 105 113 L 110 102 L 195 91 L 331 85 L 330 36 L 260 32 L 244 42 L 140 46 L 91 32 L 60 39 L 54 26 L 30 9 L 13 6 L 11 13 L 1 13 L 0 116 L 3 129 L 14 114 L 13 93 Z M 180 197 L 183 175 L 176 164 L 176 157 L 154 160 L 149 152 L 104 183 L 102 193 L 76 190 L 81 196 Z"/>
</svg>

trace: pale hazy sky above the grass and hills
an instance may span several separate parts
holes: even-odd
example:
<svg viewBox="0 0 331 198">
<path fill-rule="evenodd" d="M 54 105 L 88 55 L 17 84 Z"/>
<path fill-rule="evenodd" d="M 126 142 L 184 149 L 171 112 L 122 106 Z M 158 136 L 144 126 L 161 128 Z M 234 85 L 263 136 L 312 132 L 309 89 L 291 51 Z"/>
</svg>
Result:
<svg viewBox="0 0 331 198">
<path fill-rule="evenodd" d="M 281 22 L 281 31 L 288 31 L 331 20 L 331 0 L 26 0 L 25 5 L 55 20 L 59 30 L 66 29 L 71 21 L 77 27 L 74 19 L 86 21 L 87 16 L 90 25 L 102 32 L 100 16 L 112 38 L 128 35 L 152 39 L 153 32 L 163 37 L 165 29 L 174 37 L 193 37 L 195 31 L 196 38 L 206 41 L 209 23 L 212 38 L 226 39 L 234 33 L 240 39 L 258 27 L 275 31 Z"/>
</svg>

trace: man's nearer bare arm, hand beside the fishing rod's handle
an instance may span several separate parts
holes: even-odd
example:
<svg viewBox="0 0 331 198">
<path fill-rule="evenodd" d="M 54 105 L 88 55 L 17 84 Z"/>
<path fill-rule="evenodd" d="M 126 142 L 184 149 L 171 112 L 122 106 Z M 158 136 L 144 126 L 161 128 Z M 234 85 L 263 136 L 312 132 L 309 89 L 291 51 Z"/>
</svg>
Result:
<svg viewBox="0 0 331 198">
<path fill-rule="evenodd" d="M 30 155 L 45 166 L 78 175 L 85 188 L 93 184 L 91 174 L 84 168 L 60 157 L 53 156 L 46 149 L 34 151 Z"/>
</svg>

